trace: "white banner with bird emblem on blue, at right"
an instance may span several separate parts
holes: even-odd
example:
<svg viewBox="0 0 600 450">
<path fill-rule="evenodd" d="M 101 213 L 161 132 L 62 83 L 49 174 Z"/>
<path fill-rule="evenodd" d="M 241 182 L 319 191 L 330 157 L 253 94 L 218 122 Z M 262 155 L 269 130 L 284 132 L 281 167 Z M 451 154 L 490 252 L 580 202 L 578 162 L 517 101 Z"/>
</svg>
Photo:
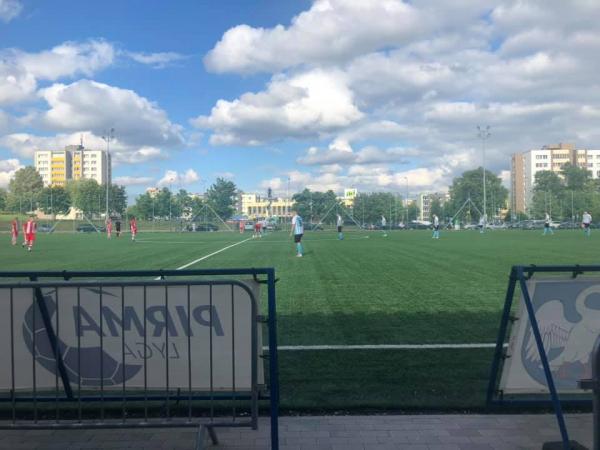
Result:
<svg viewBox="0 0 600 450">
<path fill-rule="evenodd" d="M 581 394 L 577 382 L 591 378 L 592 351 L 600 336 L 600 280 L 540 279 L 527 286 L 556 389 Z M 505 394 L 549 392 L 522 297 L 508 356 L 500 379 Z"/>
</svg>

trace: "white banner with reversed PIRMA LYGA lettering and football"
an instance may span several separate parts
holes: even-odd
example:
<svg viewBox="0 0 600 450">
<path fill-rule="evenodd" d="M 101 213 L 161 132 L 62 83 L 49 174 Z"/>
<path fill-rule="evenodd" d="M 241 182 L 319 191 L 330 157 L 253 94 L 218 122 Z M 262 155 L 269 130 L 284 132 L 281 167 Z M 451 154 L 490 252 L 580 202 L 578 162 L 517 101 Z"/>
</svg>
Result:
<svg viewBox="0 0 600 450">
<path fill-rule="evenodd" d="M 244 283 L 259 299 L 259 285 Z M 0 288 L 0 389 L 13 384 L 11 342 L 16 389 L 31 390 L 34 371 L 38 390 L 54 389 L 55 350 L 73 389 L 79 382 L 85 390 L 101 384 L 122 389 L 123 383 L 143 388 L 144 380 L 148 389 L 165 389 L 167 376 L 170 389 L 188 389 L 190 380 L 194 390 L 252 386 L 252 299 L 240 286 L 147 286 L 145 311 L 143 286 L 102 287 L 102 295 L 98 287 L 41 292 L 58 338 L 55 346 L 31 288 L 13 289 L 11 337 L 10 289 Z M 257 330 L 259 357 L 260 324 Z M 261 361 L 257 358 L 258 384 L 264 383 Z M 58 385 L 62 387 L 60 376 Z"/>
</svg>

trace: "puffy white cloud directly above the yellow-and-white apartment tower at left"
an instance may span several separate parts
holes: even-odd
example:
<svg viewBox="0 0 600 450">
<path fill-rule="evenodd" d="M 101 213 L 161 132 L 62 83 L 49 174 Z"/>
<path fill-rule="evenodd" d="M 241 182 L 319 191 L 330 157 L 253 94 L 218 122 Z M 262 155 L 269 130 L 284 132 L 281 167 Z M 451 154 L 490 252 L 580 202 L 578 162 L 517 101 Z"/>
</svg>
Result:
<svg viewBox="0 0 600 450">
<path fill-rule="evenodd" d="M 182 128 L 167 113 L 132 90 L 90 80 L 54 84 L 40 91 L 50 109 L 37 122 L 56 131 L 91 130 L 102 135 L 114 127 L 117 138 L 135 146 L 183 144 Z"/>
</svg>

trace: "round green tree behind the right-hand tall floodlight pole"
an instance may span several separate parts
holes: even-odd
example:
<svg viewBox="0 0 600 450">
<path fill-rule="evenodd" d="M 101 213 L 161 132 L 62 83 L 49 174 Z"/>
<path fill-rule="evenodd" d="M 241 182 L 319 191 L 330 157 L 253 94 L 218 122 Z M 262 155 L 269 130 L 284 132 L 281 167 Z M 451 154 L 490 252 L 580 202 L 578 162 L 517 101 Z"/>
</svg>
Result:
<svg viewBox="0 0 600 450">
<path fill-rule="evenodd" d="M 506 204 L 508 199 L 508 190 L 502 186 L 502 180 L 495 174 L 486 170 L 486 196 L 487 196 L 487 215 L 493 217 L 494 204 L 497 207 Z M 460 177 L 452 181 L 450 187 L 450 207 L 452 211 L 457 211 L 468 198 L 483 212 L 483 169 L 481 167 L 475 170 L 467 170 Z M 490 201 L 492 200 L 493 201 Z M 478 219 L 477 211 L 472 210 L 472 214 L 476 215 L 474 219 Z"/>
</svg>

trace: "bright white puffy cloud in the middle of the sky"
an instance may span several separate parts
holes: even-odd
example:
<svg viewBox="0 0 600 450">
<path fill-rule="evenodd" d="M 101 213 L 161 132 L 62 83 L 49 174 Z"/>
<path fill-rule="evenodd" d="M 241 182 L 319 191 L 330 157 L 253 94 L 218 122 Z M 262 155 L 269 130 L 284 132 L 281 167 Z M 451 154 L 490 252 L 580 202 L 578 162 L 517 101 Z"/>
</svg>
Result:
<svg viewBox="0 0 600 450">
<path fill-rule="evenodd" d="M 274 77 L 266 91 L 219 100 L 210 116 L 192 123 L 210 128 L 212 144 L 259 145 L 283 138 L 310 138 L 345 128 L 362 117 L 339 71 L 313 70 Z"/>
</svg>

